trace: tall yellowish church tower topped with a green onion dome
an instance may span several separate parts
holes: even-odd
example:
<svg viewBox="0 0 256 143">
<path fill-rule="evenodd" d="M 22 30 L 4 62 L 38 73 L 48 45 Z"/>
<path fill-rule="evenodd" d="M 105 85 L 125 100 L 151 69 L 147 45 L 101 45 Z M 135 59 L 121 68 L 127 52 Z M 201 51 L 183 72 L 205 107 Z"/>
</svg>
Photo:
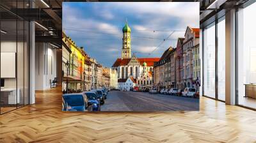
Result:
<svg viewBox="0 0 256 143">
<path fill-rule="evenodd" d="M 127 22 L 123 27 L 123 47 L 122 47 L 122 59 L 131 58 L 131 28 Z"/>
</svg>

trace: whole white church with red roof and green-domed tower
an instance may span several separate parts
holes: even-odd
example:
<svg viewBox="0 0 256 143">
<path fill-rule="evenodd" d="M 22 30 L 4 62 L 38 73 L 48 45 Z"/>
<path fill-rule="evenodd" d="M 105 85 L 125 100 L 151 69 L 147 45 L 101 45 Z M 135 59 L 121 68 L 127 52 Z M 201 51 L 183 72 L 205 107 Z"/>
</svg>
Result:
<svg viewBox="0 0 256 143">
<path fill-rule="evenodd" d="M 118 82 L 132 77 L 136 81 L 136 86 L 151 86 L 154 62 L 159 61 L 159 58 L 136 57 L 131 54 L 131 28 L 126 23 L 122 31 L 121 57 L 116 59 L 112 66 L 117 71 Z"/>
</svg>

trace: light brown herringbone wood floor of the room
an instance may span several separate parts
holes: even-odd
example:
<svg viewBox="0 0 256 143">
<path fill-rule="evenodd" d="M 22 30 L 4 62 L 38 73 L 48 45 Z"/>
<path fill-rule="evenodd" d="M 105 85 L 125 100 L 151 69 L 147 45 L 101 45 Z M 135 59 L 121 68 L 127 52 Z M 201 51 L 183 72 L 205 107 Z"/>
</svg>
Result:
<svg viewBox="0 0 256 143">
<path fill-rule="evenodd" d="M 256 142 L 256 112 L 200 98 L 200 112 L 61 112 L 61 91 L 0 116 L 0 142 Z"/>
</svg>

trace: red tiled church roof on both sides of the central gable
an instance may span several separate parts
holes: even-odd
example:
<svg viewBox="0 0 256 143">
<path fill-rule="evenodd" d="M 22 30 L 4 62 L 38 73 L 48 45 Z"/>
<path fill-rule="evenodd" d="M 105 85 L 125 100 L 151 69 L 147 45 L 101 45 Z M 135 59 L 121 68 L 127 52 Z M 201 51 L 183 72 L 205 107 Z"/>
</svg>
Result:
<svg viewBox="0 0 256 143">
<path fill-rule="evenodd" d="M 157 62 L 159 61 L 159 57 L 145 57 L 145 58 L 137 58 L 138 61 L 140 62 L 140 64 L 142 65 L 144 62 L 147 63 L 147 66 L 154 66 L 154 62 Z M 116 59 L 115 63 L 113 64 L 112 67 L 117 67 L 117 66 L 126 66 L 129 61 L 131 59 L 121 59 L 121 58 L 118 58 Z"/>
</svg>

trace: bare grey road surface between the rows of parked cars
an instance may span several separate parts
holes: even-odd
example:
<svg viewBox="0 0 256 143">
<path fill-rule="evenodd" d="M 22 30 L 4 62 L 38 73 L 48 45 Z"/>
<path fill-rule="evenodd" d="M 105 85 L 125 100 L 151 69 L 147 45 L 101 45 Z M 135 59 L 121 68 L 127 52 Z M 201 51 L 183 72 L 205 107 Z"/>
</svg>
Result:
<svg viewBox="0 0 256 143">
<path fill-rule="evenodd" d="M 102 111 L 173 111 L 199 110 L 198 98 L 150 94 L 132 91 L 110 91 Z"/>
</svg>

